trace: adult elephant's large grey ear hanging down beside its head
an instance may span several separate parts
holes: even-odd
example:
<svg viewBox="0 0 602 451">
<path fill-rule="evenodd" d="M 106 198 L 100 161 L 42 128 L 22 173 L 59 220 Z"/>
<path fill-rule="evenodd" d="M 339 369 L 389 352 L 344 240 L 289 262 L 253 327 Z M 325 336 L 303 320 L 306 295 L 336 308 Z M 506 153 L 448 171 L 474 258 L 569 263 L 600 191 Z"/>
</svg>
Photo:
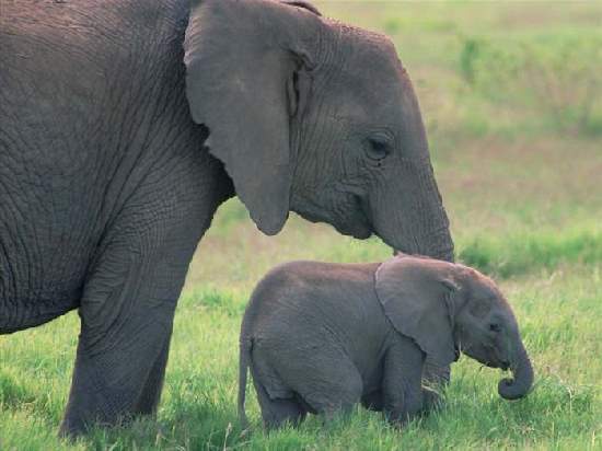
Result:
<svg viewBox="0 0 602 451">
<path fill-rule="evenodd" d="M 322 25 L 298 7 L 193 0 L 184 41 L 193 119 L 209 128 L 209 151 L 267 234 L 278 233 L 288 218 L 296 160 L 290 124 L 306 104 Z"/>
</svg>

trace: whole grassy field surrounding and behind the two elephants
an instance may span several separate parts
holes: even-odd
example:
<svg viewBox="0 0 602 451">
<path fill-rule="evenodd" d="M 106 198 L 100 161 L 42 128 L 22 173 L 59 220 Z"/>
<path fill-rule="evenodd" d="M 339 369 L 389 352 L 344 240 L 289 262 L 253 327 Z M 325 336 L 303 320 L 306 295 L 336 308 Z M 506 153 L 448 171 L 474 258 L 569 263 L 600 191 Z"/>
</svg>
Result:
<svg viewBox="0 0 602 451">
<path fill-rule="evenodd" d="M 158 419 L 66 443 L 78 317 L 0 337 L 0 450 L 602 450 L 602 3 L 319 1 L 387 33 L 414 79 L 461 261 L 491 274 L 533 359 L 533 392 L 506 402 L 500 372 L 462 358 L 447 404 L 394 430 L 358 409 L 323 427 L 241 437 L 238 334 L 250 291 L 289 259 L 387 258 L 292 217 L 262 235 L 222 206 L 180 301 Z"/>
</svg>

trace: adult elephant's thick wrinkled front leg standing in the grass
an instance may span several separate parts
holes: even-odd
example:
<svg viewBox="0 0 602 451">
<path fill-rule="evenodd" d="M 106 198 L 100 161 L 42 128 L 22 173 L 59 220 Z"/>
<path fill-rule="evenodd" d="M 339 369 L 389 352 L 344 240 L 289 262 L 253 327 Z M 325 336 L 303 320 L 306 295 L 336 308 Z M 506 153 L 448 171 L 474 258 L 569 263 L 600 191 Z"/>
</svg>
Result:
<svg viewBox="0 0 602 451">
<path fill-rule="evenodd" d="M 124 224 L 105 239 L 84 288 L 66 435 L 153 413 L 159 403 L 175 305 L 200 231 L 182 218 L 169 227 Z"/>
</svg>

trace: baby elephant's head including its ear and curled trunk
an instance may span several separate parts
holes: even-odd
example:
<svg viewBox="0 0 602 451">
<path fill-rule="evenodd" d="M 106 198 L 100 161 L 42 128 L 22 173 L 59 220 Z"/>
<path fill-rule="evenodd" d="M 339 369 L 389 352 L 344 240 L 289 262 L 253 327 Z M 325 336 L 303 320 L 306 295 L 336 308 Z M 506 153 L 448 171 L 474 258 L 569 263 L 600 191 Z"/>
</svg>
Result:
<svg viewBox="0 0 602 451">
<path fill-rule="evenodd" d="M 386 316 L 427 357 L 444 367 L 459 351 L 493 368 L 510 369 L 500 396 L 524 396 L 533 368 L 517 320 L 491 279 L 463 265 L 402 255 L 377 271 L 377 293 Z"/>
</svg>

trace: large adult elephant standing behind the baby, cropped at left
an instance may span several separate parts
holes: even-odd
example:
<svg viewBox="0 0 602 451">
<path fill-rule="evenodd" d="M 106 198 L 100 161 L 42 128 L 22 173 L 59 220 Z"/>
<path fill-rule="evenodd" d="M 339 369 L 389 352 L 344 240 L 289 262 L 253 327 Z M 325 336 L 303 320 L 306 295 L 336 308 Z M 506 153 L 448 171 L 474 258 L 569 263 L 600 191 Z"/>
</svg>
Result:
<svg viewBox="0 0 602 451">
<path fill-rule="evenodd" d="M 414 90 L 383 36 L 304 2 L 8 2 L 0 333 L 78 309 L 65 433 L 151 413 L 216 208 L 290 210 L 452 258 Z"/>
</svg>

